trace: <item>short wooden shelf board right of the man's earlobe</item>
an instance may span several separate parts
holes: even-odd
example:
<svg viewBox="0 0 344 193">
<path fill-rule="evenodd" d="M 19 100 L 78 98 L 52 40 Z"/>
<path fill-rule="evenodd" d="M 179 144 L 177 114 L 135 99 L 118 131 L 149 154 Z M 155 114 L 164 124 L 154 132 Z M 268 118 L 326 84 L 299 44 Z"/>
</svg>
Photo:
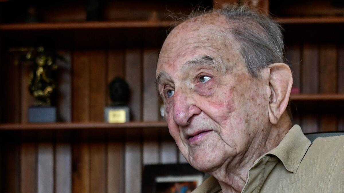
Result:
<svg viewBox="0 0 344 193">
<path fill-rule="evenodd" d="M 344 94 L 291 94 L 291 101 L 341 101 L 344 100 Z"/>
</svg>

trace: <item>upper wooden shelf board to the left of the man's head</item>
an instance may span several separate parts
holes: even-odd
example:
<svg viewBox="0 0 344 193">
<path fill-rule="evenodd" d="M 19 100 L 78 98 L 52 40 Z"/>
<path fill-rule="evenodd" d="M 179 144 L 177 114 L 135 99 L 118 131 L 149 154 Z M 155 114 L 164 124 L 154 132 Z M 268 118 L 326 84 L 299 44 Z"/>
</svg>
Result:
<svg viewBox="0 0 344 193">
<path fill-rule="evenodd" d="M 13 23 L 0 24 L 0 31 L 21 30 L 68 30 L 68 29 L 114 29 L 114 28 L 150 28 L 169 27 L 171 21 L 100 21 L 72 23 Z"/>
</svg>

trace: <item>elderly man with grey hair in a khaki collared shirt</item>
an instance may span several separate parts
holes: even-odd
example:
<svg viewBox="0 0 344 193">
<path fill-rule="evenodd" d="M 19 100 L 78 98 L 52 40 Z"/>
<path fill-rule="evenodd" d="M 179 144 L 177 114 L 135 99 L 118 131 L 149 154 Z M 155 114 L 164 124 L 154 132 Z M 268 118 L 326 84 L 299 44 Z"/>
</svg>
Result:
<svg viewBox="0 0 344 193">
<path fill-rule="evenodd" d="M 156 85 L 185 159 L 212 174 L 194 192 L 343 192 L 343 137 L 311 142 L 286 111 L 292 74 L 280 27 L 244 7 L 176 26 Z"/>
</svg>

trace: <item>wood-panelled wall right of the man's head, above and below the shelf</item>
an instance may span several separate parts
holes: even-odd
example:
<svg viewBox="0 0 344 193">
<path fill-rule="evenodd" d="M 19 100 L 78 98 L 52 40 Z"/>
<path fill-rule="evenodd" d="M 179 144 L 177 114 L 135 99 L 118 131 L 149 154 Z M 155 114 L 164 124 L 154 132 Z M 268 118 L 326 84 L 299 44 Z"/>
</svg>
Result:
<svg viewBox="0 0 344 193">
<path fill-rule="evenodd" d="M 285 57 L 293 73 L 293 90 L 305 94 L 343 93 L 343 54 L 342 44 L 287 44 Z M 292 103 L 294 123 L 304 133 L 343 130 L 343 111 L 334 104 L 326 107 L 321 103 Z"/>
</svg>

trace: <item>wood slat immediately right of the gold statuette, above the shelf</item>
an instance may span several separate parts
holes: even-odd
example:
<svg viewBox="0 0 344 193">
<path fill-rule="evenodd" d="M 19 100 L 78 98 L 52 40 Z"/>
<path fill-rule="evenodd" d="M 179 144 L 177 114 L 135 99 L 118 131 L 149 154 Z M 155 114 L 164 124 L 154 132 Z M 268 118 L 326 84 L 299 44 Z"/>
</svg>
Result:
<svg viewBox="0 0 344 193">
<path fill-rule="evenodd" d="M 72 122 L 72 55 L 69 51 L 58 51 L 66 62 L 57 60 L 57 119 L 61 122 Z"/>
</svg>

